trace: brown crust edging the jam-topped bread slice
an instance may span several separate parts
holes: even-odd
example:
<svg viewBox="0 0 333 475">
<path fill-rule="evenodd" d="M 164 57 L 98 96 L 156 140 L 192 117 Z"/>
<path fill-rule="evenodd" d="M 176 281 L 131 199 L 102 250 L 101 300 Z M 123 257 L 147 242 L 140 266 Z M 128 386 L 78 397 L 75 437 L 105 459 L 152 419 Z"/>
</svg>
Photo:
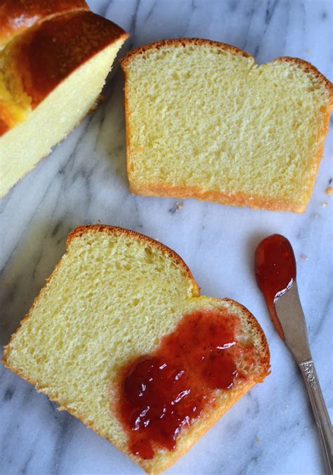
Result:
<svg viewBox="0 0 333 475">
<path fill-rule="evenodd" d="M 112 235 L 123 234 L 124 236 L 133 237 L 135 239 L 138 239 L 138 241 L 141 241 L 143 243 L 149 243 L 150 246 L 154 246 L 160 252 L 168 255 L 168 257 L 170 257 L 171 260 L 173 260 L 176 263 L 176 265 L 181 267 L 183 272 L 185 272 L 186 276 L 188 277 L 188 279 L 190 279 L 190 281 L 192 283 L 192 286 L 193 286 L 193 295 L 192 296 L 193 297 L 199 297 L 200 296 L 200 292 L 199 292 L 200 289 L 197 286 L 197 283 L 195 283 L 195 281 L 192 277 L 192 274 L 190 272 L 190 269 L 188 269 L 187 265 L 185 265 L 185 262 L 181 259 L 181 257 L 179 257 L 178 254 L 176 254 L 174 252 L 174 250 L 171 250 L 170 248 L 164 246 L 164 244 L 159 243 L 158 241 L 155 241 L 154 239 L 151 239 L 148 236 L 145 236 L 143 234 L 139 234 L 137 232 L 131 231 L 130 229 L 123 229 L 123 228 L 120 228 L 120 227 L 113 227 L 113 226 L 108 226 L 108 225 L 79 226 L 76 229 L 74 229 L 72 232 L 70 232 L 70 234 L 68 234 L 68 236 L 67 236 L 67 252 L 70 252 L 70 245 L 74 241 L 74 239 L 77 239 L 80 236 L 82 236 L 84 234 L 87 234 L 87 233 L 98 233 L 98 232 L 106 232 L 107 234 L 112 234 Z M 60 263 L 61 263 L 61 260 L 60 260 L 60 262 L 58 262 L 58 265 L 55 267 L 55 269 L 54 269 L 53 273 L 51 274 L 51 276 L 46 280 L 46 286 L 44 286 L 44 288 L 41 289 L 41 292 L 39 293 L 39 295 L 34 300 L 34 303 L 32 304 L 30 312 L 28 312 L 28 314 L 25 316 L 25 318 L 22 319 L 22 321 L 20 323 L 20 327 L 22 326 L 22 323 L 26 319 L 29 318 L 29 316 L 32 312 L 32 309 L 34 308 L 34 305 L 37 304 L 37 302 L 38 302 L 39 298 L 41 297 L 41 295 L 44 292 L 47 291 L 47 284 L 57 274 L 58 267 L 60 266 Z M 6 347 L 4 349 L 5 351 L 4 351 L 4 356 L 2 358 L 2 362 L 4 363 L 4 365 L 8 369 L 12 370 L 13 373 L 15 373 L 15 374 L 19 375 L 20 377 L 22 377 L 23 379 L 27 380 L 27 382 L 30 382 L 30 384 L 33 384 L 34 387 L 36 387 L 37 391 L 46 394 L 46 396 L 48 396 L 48 398 L 51 399 L 51 401 L 55 401 L 56 403 L 59 403 L 60 404 L 60 408 L 59 408 L 60 410 L 67 410 L 68 413 L 70 413 L 70 414 L 74 415 L 75 417 L 77 417 L 77 419 L 81 420 L 81 422 L 83 422 L 87 427 L 89 427 L 90 429 L 93 429 L 93 431 L 95 431 L 97 434 L 99 434 L 100 436 L 105 437 L 107 440 L 109 440 L 114 446 L 116 446 L 119 450 L 121 450 L 123 453 L 128 455 L 134 462 L 136 462 L 145 471 L 147 471 L 147 473 L 159 474 L 161 471 L 164 471 L 165 469 L 170 467 L 171 464 L 174 464 L 174 462 L 176 462 L 176 460 L 178 460 L 178 458 L 180 458 L 181 455 L 183 455 L 185 452 L 187 452 L 192 447 L 192 445 L 198 439 L 200 439 L 200 437 L 202 435 L 204 435 L 211 428 L 211 426 L 213 424 L 215 424 L 217 422 L 217 420 L 224 413 L 226 413 L 226 411 L 231 406 L 233 406 L 233 404 L 238 399 L 240 399 L 240 397 L 242 397 L 244 394 L 246 394 L 249 391 L 249 389 L 251 389 L 256 383 L 262 382 L 264 380 L 264 378 L 269 374 L 270 352 L 269 352 L 269 349 L 268 349 L 268 343 L 267 343 L 266 337 L 263 333 L 263 330 L 262 330 L 261 326 L 259 325 L 258 321 L 256 321 L 255 317 L 251 314 L 251 312 L 249 312 L 249 310 L 246 307 L 244 307 L 243 305 L 240 305 L 238 302 L 235 302 L 235 300 L 230 300 L 228 298 L 224 298 L 224 299 L 209 298 L 209 301 L 211 301 L 212 305 L 214 305 L 214 302 L 215 302 L 215 303 L 218 303 L 218 304 L 221 304 L 221 303 L 228 304 L 228 306 L 231 306 L 231 308 L 232 307 L 237 307 L 237 311 L 242 313 L 242 316 L 244 316 L 244 319 L 246 319 L 249 327 L 254 329 L 254 331 L 255 331 L 255 333 L 256 333 L 257 337 L 259 338 L 259 341 L 260 341 L 259 346 L 260 346 L 260 351 L 261 351 L 261 355 L 262 355 L 262 357 L 261 357 L 261 372 L 257 373 L 255 377 L 252 377 L 251 379 L 249 379 L 246 384 L 243 384 L 242 387 L 241 387 L 241 390 L 239 389 L 239 390 L 237 390 L 237 392 L 230 392 L 228 394 L 227 403 L 223 403 L 220 406 L 217 406 L 217 408 L 215 408 L 214 410 L 210 410 L 207 413 L 207 417 L 205 417 L 204 420 L 200 420 L 198 422 L 198 427 L 195 430 L 194 434 L 191 433 L 190 435 L 188 435 L 188 434 L 184 435 L 183 440 L 185 441 L 185 443 L 181 446 L 181 450 L 175 450 L 174 452 L 169 452 L 167 457 L 162 458 L 162 461 L 159 460 L 159 461 L 154 463 L 154 460 L 145 461 L 145 460 L 141 460 L 140 457 L 136 457 L 136 456 L 132 455 L 131 453 L 129 453 L 129 450 L 127 450 L 126 446 L 121 446 L 120 444 L 115 443 L 115 441 L 110 440 L 107 437 L 105 437 L 103 434 L 101 434 L 100 431 L 98 431 L 95 427 L 93 427 L 93 423 L 86 420 L 86 418 L 83 415 L 81 415 L 79 413 L 79 411 L 74 410 L 72 408 L 67 408 L 67 406 L 64 405 L 63 401 L 59 401 L 59 397 L 58 397 L 57 394 L 50 394 L 49 392 L 44 390 L 43 387 L 40 386 L 38 381 L 32 380 L 32 378 L 30 378 L 29 375 L 25 375 L 25 373 L 22 373 L 22 371 L 18 370 L 17 368 L 13 368 L 13 366 L 11 366 L 11 364 L 8 363 L 8 360 L 7 360 L 8 352 L 10 351 L 8 347 L 9 347 L 10 343 L 13 341 L 13 339 L 15 338 L 15 335 L 18 333 L 18 330 L 20 329 L 20 327 L 18 328 L 18 330 L 16 330 L 15 333 L 13 333 L 13 335 L 11 336 L 10 342 L 6 345 Z"/>
</svg>

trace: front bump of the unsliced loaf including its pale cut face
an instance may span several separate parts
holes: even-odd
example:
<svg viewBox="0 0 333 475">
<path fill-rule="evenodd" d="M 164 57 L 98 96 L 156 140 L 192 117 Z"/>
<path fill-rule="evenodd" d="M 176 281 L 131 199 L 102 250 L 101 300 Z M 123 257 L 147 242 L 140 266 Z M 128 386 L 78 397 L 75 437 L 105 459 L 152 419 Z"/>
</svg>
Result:
<svg viewBox="0 0 333 475">
<path fill-rule="evenodd" d="M 0 197 L 96 103 L 128 34 L 90 11 L 27 29 L 0 53 Z"/>
</svg>

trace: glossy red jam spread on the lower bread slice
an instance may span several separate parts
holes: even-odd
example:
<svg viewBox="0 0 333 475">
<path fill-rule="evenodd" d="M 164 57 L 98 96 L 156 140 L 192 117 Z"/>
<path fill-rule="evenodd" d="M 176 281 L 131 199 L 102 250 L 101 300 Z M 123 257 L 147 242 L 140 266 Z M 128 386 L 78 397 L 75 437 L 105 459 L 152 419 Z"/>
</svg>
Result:
<svg viewBox="0 0 333 475">
<path fill-rule="evenodd" d="M 254 359 L 253 344 L 235 337 L 240 321 L 223 312 L 185 315 L 157 351 L 133 361 L 122 371 L 119 418 L 129 433 L 133 455 L 148 460 L 153 447 L 174 450 L 184 426 L 204 408 L 214 406 L 214 391 L 228 391 L 246 375 L 238 358 Z"/>
</svg>

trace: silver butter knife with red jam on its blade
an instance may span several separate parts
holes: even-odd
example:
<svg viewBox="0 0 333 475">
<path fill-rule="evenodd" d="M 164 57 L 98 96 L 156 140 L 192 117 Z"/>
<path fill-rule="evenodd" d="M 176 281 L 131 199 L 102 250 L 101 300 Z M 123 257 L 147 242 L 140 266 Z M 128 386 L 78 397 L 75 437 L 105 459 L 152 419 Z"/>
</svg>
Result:
<svg viewBox="0 0 333 475">
<path fill-rule="evenodd" d="M 308 344 L 306 321 L 296 284 L 296 260 L 289 241 L 280 234 L 256 248 L 255 273 L 278 334 L 296 361 L 308 391 L 327 474 L 333 472 L 333 432 Z"/>
</svg>

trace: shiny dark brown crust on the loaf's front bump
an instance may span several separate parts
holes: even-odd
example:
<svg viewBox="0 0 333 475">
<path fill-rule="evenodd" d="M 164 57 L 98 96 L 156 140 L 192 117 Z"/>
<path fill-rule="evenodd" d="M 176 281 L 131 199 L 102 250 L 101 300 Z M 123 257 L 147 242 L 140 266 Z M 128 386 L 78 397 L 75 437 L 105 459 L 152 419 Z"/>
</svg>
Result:
<svg viewBox="0 0 333 475">
<path fill-rule="evenodd" d="M 129 35 L 90 11 L 58 15 L 28 29 L 9 45 L 6 65 L 36 107 L 77 67 Z"/>
</svg>

